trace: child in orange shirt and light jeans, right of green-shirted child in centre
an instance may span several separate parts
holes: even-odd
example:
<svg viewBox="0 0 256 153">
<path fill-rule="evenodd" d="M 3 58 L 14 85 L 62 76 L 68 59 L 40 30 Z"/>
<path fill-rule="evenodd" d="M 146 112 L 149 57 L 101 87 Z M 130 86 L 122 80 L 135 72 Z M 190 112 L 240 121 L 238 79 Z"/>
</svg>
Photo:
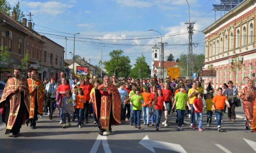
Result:
<svg viewBox="0 0 256 153">
<path fill-rule="evenodd" d="M 149 87 L 144 85 L 142 88 L 143 92 L 141 93 L 141 96 L 144 98 L 144 102 L 142 104 L 142 118 L 143 118 L 143 125 L 146 125 L 149 127 L 149 111 L 150 111 L 150 107 L 151 107 L 151 94 L 149 93 Z M 146 118 L 145 116 L 147 115 L 147 123 L 146 123 Z"/>
</svg>

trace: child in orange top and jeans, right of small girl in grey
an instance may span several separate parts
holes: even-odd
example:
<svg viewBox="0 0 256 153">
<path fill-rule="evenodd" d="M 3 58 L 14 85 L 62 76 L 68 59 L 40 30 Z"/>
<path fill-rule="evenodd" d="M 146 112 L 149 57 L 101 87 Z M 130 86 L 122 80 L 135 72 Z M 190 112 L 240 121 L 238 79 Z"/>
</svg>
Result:
<svg viewBox="0 0 256 153">
<path fill-rule="evenodd" d="M 76 114 L 78 118 L 78 127 L 82 127 L 82 111 L 84 110 L 84 103 L 86 103 L 82 88 L 77 89 L 76 95 Z"/>
</svg>

